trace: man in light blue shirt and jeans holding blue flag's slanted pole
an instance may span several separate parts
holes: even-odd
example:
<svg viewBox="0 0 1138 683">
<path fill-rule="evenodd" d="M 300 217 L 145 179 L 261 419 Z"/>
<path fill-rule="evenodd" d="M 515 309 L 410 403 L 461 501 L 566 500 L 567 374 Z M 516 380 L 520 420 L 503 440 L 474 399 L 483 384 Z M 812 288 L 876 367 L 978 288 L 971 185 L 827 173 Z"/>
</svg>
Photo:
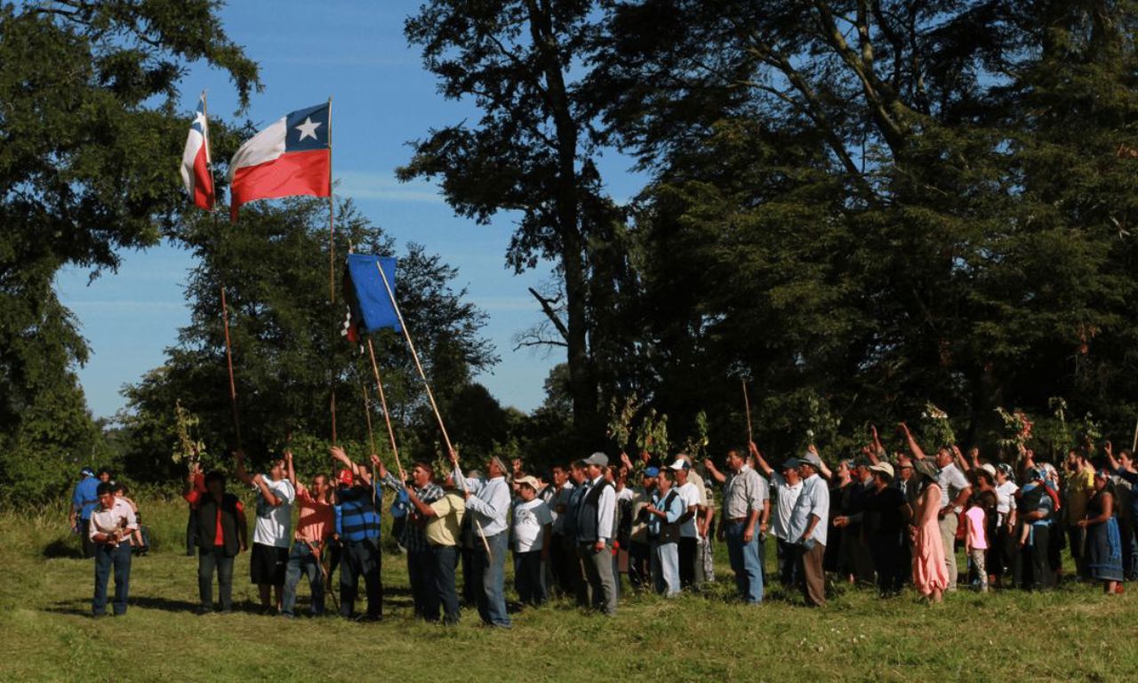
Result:
<svg viewBox="0 0 1138 683">
<path fill-rule="evenodd" d="M 486 479 L 468 479 L 459 468 L 459 454 L 451 452 L 454 480 L 464 492 L 467 513 L 472 517 L 475 557 L 470 581 L 483 586 L 478 596 L 478 615 L 483 623 L 498 628 L 510 628 L 505 611 L 505 551 L 509 544 L 506 515 L 510 511 L 510 483 L 506 480 L 505 461 L 490 458 L 486 464 Z M 487 556 L 488 553 L 488 556 Z"/>
</svg>

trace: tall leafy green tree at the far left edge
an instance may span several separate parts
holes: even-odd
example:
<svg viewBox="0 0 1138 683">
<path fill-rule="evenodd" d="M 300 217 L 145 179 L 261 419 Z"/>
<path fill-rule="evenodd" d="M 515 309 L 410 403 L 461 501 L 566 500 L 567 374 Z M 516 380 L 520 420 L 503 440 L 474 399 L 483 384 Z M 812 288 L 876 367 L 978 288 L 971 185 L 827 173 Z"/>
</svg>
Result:
<svg viewBox="0 0 1138 683">
<path fill-rule="evenodd" d="M 241 101 L 257 67 L 220 2 L 0 2 L 0 486 L 75 459 L 97 430 L 74 368 L 86 345 L 52 282 L 114 270 L 184 203 L 175 159 L 185 67 L 228 72 Z M 71 453 L 72 455 L 66 455 Z"/>
</svg>

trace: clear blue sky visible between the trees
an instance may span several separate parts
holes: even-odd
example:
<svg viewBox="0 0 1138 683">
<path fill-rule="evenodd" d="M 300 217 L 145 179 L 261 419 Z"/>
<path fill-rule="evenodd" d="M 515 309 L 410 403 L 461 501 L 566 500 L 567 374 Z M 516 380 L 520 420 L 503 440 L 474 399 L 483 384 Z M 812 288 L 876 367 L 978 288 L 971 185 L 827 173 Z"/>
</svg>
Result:
<svg viewBox="0 0 1138 683">
<path fill-rule="evenodd" d="M 469 104 L 437 93 L 434 76 L 404 40 L 404 18 L 419 6 L 420 0 L 240 0 L 225 7 L 222 17 L 230 38 L 262 68 L 264 92 L 254 94 L 248 116 L 266 125 L 332 97 L 337 194 L 355 198 L 398 240 L 401 250 L 417 241 L 459 268 L 456 285 L 468 287 L 470 301 L 489 314 L 484 334 L 502 359 L 478 381 L 503 404 L 528 411 L 541 403 L 542 381 L 563 356 L 559 349 L 552 355 L 513 351 L 513 336 L 541 320 L 527 287 L 547 280 L 550 264 L 514 275 L 504 257 L 513 230 L 510 216 L 477 225 L 454 216 L 435 186 L 394 178 L 395 167 L 410 157 L 407 141 L 426 137 L 431 126 L 477 116 Z M 203 88 L 212 116 L 230 117 L 237 110 L 237 94 L 225 76 L 196 66 L 182 82 L 187 130 Z M 173 173 L 179 162 L 170 159 Z M 619 155 L 603 159 L 609 190 L 618 200 L 638 189 L 629 165 Z M 183 287 L 192 266 L 188 253 L 162 245 L 123 254 L 117 273 L 104 273 L 90 285 L 85 270 L 59 274 L 60 297 L 91 347 L 91 360 L 79 376 L 96 417 L 121 409 L 123 385 L 160 365 L 164 348 L 176 343 L 178 329 L 189 322 Z"/>
</svg>

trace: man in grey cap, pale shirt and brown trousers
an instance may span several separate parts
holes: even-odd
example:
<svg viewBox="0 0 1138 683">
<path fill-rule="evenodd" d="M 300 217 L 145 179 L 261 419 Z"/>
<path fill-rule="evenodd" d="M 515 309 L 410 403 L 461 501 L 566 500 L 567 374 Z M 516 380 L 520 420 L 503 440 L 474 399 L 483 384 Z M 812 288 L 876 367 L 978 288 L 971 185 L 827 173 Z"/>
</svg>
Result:
<svg viewBox="0 0 1138 683">
<path fill-rule="evenodd" d="M 818 476 L 822 459 L 811 445 L 799 459 L 802 492 L 794 502 L 787 536 L 795 543 L 802 571 L 802 595 L 811 607 L 826 603 L 826 575 L 822 559 L 826 553 L 826 525 L 830 520 L 830 488 Z"/>
</svg>

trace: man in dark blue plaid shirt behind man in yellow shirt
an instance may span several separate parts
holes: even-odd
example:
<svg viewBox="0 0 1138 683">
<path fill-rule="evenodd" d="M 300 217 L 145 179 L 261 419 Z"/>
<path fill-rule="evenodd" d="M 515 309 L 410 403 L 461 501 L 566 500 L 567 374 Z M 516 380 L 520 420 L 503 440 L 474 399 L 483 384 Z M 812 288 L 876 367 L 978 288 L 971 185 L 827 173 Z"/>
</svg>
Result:
<svg viewBox="0 0 1138 683">
<path fill-rule="evenodd" d="M 384 486 L 396 494 L 403 492 L 403 484 L 384 467 L 378 456 L 372 455 L 372 463 L 379 470 Z M 430 463 L 420 461 L 411 467 L 411 484 L 415 496 L 428 505 L 443 497 L 443 488 L 435 484 L 434 477 L 435 469 Z M 439 603 L 438 591 L 435 590 L 435 556 L 427 543 L 424 522 L 422 515 L 412 505 L 399 541 L 407 551 L 407 574 L 411 577 L 411 596 L 415 604 L 415 616 L 428 622 L 437 622 Z"/>
</svg>

